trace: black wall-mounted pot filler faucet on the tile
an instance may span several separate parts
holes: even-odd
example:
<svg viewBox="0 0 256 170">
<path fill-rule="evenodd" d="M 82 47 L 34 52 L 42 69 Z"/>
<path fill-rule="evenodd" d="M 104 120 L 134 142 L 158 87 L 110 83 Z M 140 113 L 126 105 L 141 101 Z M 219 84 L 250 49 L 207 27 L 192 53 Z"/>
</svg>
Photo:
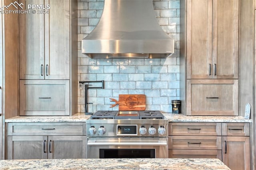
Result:
<svg viewBox="0 0 256 170">
<path fill-rule="evenodd" d="M 102 85 L 101 86 L 99 86 L 99 87 L 97 87 L 97 86 L 95 86 L 95 87 L 92 87 L 92 84 L 85 84 L 85 88 L 84 88 L 84 90 L 85 90 L 85 94 L 84 94 L 84 97 L 85 97 L 85 114 L 86 115 L 92 115 L 93 113 L 91 113 L 91 112 L 88 112 L 88 104 L 93 104 L 93 103 L 89 103 L 88 102 L 88 89 L 89 88 L 98 88 L 98 89 L 104 89 L 104 80 L 101 80 L 101 81 L 79 81 L 79 85 L 81 86 L 81 84 L 84 84 L 84 83 L 102 83 Z M 92 107 L 92 109 L 93 109 L 93 107 Z"/>
</svg>

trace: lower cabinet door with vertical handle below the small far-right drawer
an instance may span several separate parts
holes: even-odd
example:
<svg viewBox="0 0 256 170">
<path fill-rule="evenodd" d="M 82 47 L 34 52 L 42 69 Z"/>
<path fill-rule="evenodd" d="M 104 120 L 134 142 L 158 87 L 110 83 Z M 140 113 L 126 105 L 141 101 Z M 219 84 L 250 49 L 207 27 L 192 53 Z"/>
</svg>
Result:
<svg viewBox="0 0 256 170">
<path fill-rule="evenodd" d="M 222 137 L 222 162 L 232 170 L 250 170 L 250 137 Z"/>
</svg>

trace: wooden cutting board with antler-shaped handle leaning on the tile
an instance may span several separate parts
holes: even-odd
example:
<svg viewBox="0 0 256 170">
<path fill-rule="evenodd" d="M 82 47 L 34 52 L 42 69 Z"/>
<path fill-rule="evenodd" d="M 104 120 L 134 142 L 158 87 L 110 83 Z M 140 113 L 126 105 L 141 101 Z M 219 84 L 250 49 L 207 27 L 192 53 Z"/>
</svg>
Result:
<svg viewBox="0 0 256 170">
<path fill-rule="evenodd" d="M 113 98 L 110 102 L 116 102 L 110 104 L 110 107 L 119 105 L 119 110 L 145 110 L 146 109 L 146 96 L 144 94 L 119 94 L 119 101 Z"/>
</svg>

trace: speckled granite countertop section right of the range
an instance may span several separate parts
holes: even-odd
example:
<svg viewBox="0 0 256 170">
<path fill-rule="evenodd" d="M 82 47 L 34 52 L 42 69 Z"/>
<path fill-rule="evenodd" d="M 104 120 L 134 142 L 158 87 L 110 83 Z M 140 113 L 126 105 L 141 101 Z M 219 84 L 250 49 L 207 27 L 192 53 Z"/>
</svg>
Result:
<svg viewBox="0 0 256 170">
<path fill-rule="evenodd" d="M 245 119 L 242 116 L 185 116 L 172 113 L 163 113 L 163 115 L 169 122 L 252 122 L 252 119 Z"/>
</svg>

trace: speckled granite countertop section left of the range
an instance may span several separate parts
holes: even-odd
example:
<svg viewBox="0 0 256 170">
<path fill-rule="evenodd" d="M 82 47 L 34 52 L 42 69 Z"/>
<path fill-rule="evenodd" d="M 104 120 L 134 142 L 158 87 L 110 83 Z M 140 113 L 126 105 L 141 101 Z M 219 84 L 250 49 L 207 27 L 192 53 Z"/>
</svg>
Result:
<svg viewBox="0 0 256 170">
<path fill-rule="evenodd" d="M 16 116 L 5 122 L 86 122 L 90 115 L 76 113 L 72 116 Z"/>
</svg>

